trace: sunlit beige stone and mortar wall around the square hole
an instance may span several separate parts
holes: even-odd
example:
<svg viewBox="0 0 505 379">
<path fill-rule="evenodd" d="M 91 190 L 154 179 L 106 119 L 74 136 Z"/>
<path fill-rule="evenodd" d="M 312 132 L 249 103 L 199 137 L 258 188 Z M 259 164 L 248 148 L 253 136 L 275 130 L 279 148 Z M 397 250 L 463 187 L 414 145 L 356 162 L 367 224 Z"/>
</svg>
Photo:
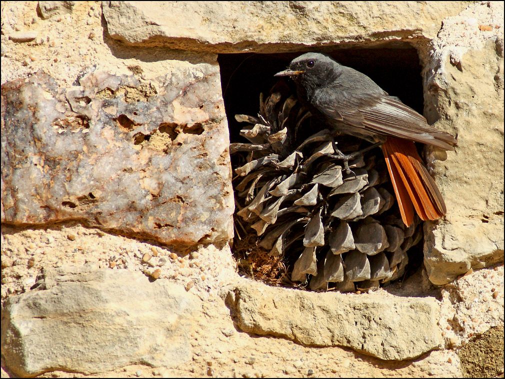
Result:
<svg viewBox="0 0 505 379">
<path fill-rule="evenodd" d="M 1 38 L 3 377 L 503 373 L 503 3 L 3 2 Z M 458 137 L 425 268 L 240 277 L 218 54 L 406 46 Z"/>
</svg>

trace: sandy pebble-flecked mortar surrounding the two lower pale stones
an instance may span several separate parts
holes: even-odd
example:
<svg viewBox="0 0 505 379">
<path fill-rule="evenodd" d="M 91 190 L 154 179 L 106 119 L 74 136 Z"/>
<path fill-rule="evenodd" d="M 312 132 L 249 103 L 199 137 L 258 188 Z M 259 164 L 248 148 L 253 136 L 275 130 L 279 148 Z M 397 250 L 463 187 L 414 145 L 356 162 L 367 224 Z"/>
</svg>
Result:
<svg viewBox="0 0 505 379">
<path fill-rule="evenodd" d="M 151 258 L 144 263 L 142 260 L 146 254 Z M 426 273 L 419 272 L 403 283 L 392 283 L 385 289 L 371 292 L 378 301 L 387 301 L 391 294 L 428 295 L 439 306 L 437 323 L 445 348 L 407 361 L 410 362 L 407 365 L 406 361 L 384 361 L 339 347 L 311 348 L 284 338 L 250 335 L 234 323 L 230 317 L 231 309 L 226 305 L 229 291 L 250 282 L 236 274 L 235 262 L 227 246 L 222 249 L 201 247 L 179 256 L 153 243 L 104 233 L 78 223 L 25 230 L 3 226 L 2 300 L 27 291 L 36 292 L 36 289 L 29 289 L 40 279 L 42 268 L 61 269 L 67 263 L 84 265 L 85 262 L 111 273 L 133 270 L 145 275 L 146 279 L 154 270 L 160 269 L 157 281 L 165 280 L 181 286 L 197 296 L 202 307 L 189 332 L 192 358 L 182 367 L 128 365 L 101 371 L 98 376 L 135 377 L 140 371 L 140 376 L 198 377 L 212 372 L 219 377 L 233 374 L 301 377 L 312 370 L 314 375 L 330 377 L 457 377 L 461 376 L 459 348 L 490 325 L 503 323 L 503 266 L 497 266 L 463 276 L 441 289 L 432 287 Z M 468 297 L 462 300 L 465 294 Z M 349 300 L 359 297 L 355 294 L 342 296 Z M 398 327 L 400 325 L 401 321 Z M 64 371 L 42 376 L 65 377 L 69 374 L 83 376 L 82 373 Z"/>
</svg>

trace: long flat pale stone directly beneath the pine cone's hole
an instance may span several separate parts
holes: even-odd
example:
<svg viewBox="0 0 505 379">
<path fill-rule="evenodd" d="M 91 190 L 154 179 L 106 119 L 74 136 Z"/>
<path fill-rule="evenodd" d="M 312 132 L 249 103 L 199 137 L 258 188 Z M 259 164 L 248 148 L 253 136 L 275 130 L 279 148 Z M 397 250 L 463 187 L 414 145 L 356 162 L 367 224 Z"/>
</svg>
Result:
<svg viewBox="0 0 505 379">
<path fill-rule="evenodd" d="M 415 358 L 442 343 L 435 299 L 308 293 L 262 283 L 239 286 L 230 296 L 238 326 L 250 333 L 395 360 Z"/>
</svg>

